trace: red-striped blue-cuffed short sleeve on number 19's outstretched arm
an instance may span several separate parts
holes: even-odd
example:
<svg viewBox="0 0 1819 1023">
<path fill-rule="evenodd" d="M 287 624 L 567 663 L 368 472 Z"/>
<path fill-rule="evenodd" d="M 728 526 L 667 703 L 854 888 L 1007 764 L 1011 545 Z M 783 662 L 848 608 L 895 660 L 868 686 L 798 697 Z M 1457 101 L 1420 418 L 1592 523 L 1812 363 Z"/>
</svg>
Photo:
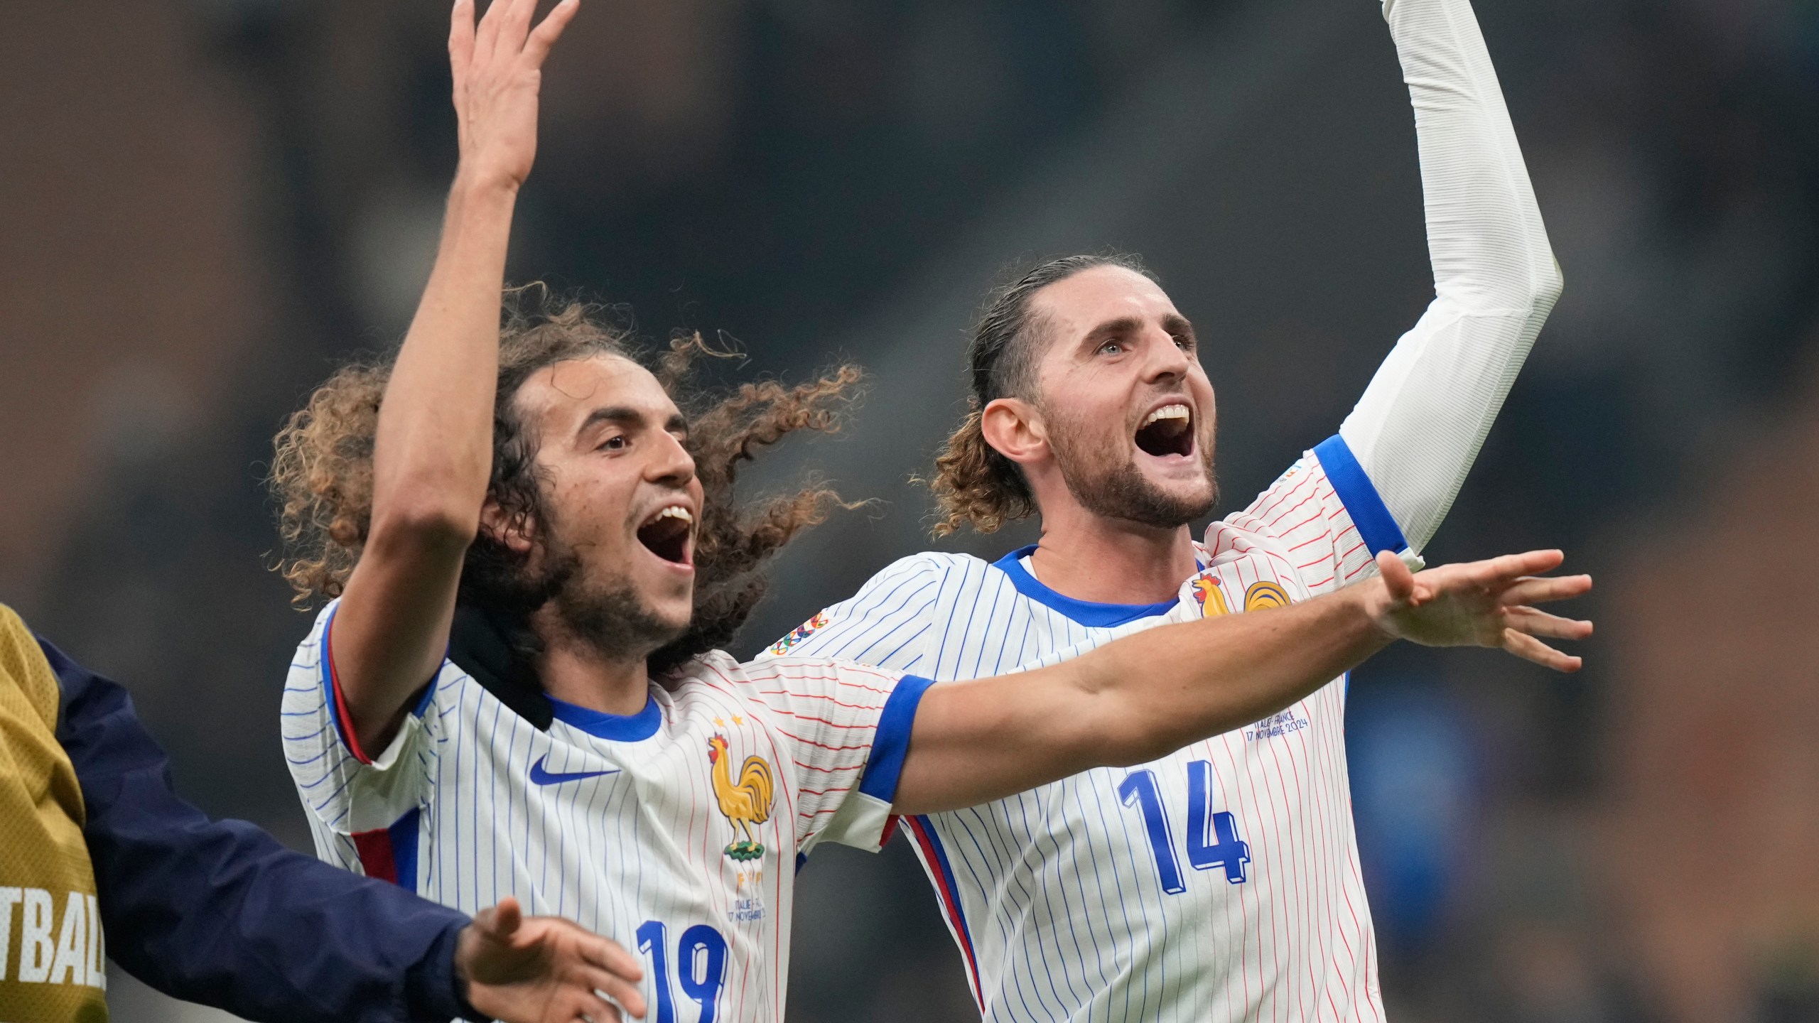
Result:
<svg viewBox="0 0 1819 1023">
<path fill-rule="evenodd" d="M 846 661 L 773 657 L 746 668 L 757 699 L 780 717 L 797 788 L 797 843 L 877 850 L 910 752 L 919 675 Z"/>
</svg>

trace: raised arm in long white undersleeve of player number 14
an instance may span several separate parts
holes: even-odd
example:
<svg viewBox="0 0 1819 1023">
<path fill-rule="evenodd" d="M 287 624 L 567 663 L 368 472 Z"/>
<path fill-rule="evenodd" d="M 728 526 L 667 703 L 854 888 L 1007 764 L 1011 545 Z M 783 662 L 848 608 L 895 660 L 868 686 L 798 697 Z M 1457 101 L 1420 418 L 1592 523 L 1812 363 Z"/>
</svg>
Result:
<svg viewBox="0 0 1819 1023">
<path fill-rule="evenodd" d="M 1435 299 L 1339 435 L 1419 552 L 1559 299 L 1561 271 L 1472 4 L 1382 11 L 1415 106 Z"/>
</svg>

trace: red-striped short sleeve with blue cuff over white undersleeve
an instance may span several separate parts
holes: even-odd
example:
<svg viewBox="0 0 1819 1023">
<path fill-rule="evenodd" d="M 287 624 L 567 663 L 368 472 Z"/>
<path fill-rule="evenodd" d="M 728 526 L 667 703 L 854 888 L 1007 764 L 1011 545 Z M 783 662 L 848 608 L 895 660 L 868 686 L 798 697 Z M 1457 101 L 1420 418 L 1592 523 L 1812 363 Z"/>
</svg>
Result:
<svg viewBox="0 0 1819 1023">
<path fill-rule="evenodd" d="M 1228 528 L 1221 528 L 1228 526 Z M 1377 552 L 1402 552 L 1382 497 L 1341 437 L 1306 451 L 1250 508 L 1215 522 L 1206 544 L 1217 561 L 1244 537 L 1268 537 L 1268 555 L 1319 595 L 1370 572 Z"/>
</svg>

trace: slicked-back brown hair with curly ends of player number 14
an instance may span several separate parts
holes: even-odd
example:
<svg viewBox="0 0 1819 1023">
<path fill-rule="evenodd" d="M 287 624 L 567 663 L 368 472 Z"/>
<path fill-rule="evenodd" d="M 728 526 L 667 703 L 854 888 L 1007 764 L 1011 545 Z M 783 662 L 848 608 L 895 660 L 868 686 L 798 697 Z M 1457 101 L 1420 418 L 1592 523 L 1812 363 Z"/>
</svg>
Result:
<svg viewBox="0 0 1819 1023">
<path fill-rule="evenodd" d="M 1017 462 L 986 442 L 979 419 L 988 404 L 1002 397 L 1035 400 L 1035 339 L 1042 324 L 1031 302 L 1050 284 L 1099 266 L 1119 266 L 1155 280 L 1142 260 L 1130 253 L 1070 255 L 1024 269 L 986 295 L 966 349 L 971 391 L 968 413 L 935 459 L 935 479 L 930 481 L 939 510 L 933 526 L 937 537 L 951 535 L 960 526 L 995 533 L 1006 522 L 1037 513 L 1030 481 Z"/>
</svg>

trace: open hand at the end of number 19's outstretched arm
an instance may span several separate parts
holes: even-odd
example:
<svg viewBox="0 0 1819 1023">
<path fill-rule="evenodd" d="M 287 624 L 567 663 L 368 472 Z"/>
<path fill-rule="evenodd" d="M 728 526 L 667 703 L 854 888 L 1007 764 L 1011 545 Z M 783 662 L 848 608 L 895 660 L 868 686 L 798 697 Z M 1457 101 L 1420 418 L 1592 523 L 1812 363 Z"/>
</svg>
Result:
<svg viewBox="0 0 1819 1023">
<path fill-rule="evenodd" d="M 1579 657 L 1548 646 L 1543 637 L 1586 639 L 1592 623 L 1532 606 L 1592 590 L 1590 575 L 1537 575 L 1563 561 L 1557 550 L 1532 550 L 1410 572 L 1397 555 L 1382 552 L 1377 572 L 1384 586 L 1370 613 L 1395 639 L 1422 646 L 1495 646 L 1555 672 L 1577 672 Z"/>
</svg>

